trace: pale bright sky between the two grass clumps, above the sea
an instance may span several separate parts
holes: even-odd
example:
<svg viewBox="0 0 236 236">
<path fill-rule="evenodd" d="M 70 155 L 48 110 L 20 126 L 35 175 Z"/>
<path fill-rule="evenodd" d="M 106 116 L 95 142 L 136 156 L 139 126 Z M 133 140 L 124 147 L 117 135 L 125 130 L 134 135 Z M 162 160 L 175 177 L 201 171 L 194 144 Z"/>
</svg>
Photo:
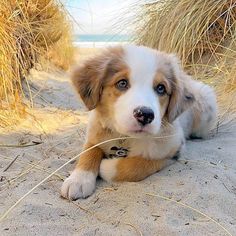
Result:
<svg viewBox="0 0 236 236">
<path fill-rule="evenodd" d="M 71 15 L 76 34 L 127 34 L 129 27 L 122 27 L 123 23 L 120 22 L 124 19 L 124 14 L 125 19 L 133 17 L 132 7 L 140 0 L 62 0 L 62 2 Z"/>
</svg>

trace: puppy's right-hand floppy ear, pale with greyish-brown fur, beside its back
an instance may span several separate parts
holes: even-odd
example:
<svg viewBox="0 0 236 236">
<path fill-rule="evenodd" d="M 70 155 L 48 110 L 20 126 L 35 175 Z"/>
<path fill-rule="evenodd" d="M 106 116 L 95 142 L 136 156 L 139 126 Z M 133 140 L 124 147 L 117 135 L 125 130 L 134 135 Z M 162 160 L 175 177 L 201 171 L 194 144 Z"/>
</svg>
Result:
<svg viewBox="0 0 236 236">
<path fill-rule="evenodd" d="M 167 119 L 172 123 L 193 105 L 195 97 L 188 85 L 189 76 L 182 70 L 179 60 L 174 55 L 169 56 L 168 66 L 172 92 L 167 108 Z"/>
</svg>

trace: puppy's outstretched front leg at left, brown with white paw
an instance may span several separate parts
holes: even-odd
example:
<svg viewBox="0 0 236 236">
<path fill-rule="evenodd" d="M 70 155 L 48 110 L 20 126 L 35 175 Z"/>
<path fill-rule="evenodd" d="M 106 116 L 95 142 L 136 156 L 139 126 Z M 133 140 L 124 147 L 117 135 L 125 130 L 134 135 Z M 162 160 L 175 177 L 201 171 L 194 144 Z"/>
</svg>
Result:
<svg viewBox="0 0 236 236">
<path fill-rule="evenodd" d="M 92 146 L 86 144 L 84 150 Z M 76 168 L 62 185 L 62 197 L 76 200 L 86 198 L 93 193 L 103 155 L 103 151 L 95 147 L 80 156 Z"/>
</svg>

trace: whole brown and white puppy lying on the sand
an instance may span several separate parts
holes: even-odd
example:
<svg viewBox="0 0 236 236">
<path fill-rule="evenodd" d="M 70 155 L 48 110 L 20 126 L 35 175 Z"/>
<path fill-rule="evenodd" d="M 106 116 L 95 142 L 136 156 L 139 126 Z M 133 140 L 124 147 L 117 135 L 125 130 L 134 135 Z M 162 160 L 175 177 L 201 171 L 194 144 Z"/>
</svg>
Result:
<svg viewBox="0 0 236 236">
<path fill-rule="evenodd" d="M 174 55 L 127 45 L 105 50 L 73 73 L 91 111 L 84 149 L 61 194 L 93 193 L 107 181 L 140 181 L 165 167 L 190 135 L 205 137 L 216 118 L 213 90 L 192 80 Z M 130 137 L 136 137 L 132 139 Z"/>
</svg>

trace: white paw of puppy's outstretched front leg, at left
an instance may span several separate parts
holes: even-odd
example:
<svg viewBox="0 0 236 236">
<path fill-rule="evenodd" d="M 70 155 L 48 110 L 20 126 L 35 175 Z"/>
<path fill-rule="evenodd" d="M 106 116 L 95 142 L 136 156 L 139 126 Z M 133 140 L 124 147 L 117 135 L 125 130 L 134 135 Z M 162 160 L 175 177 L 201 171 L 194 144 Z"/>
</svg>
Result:
<svg viewBox="0 0 236 236">
<path fill-rule="evenodd" d="M 61 195 L 70 200 L 86 198 L 95 190 L 96 176 L 91 171 L 74 170 L 64 181 Z"/>
</svg>

